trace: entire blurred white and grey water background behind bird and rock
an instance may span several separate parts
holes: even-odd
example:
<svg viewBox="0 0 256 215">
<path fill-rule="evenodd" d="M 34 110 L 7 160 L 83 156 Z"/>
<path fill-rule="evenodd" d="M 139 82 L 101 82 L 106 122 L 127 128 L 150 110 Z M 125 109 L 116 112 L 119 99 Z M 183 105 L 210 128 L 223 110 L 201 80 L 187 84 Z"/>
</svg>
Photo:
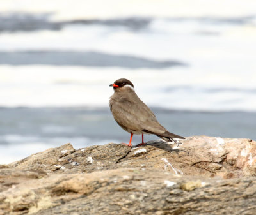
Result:
<svg viewBox="0 0 256 215">
<path fill-rule="evenodd" d="M 173 133 L 256 140 L 255 50 L 250 0 L 1 0 L 0 163 L 127 142 L 118 78 Z"/>
</svg>

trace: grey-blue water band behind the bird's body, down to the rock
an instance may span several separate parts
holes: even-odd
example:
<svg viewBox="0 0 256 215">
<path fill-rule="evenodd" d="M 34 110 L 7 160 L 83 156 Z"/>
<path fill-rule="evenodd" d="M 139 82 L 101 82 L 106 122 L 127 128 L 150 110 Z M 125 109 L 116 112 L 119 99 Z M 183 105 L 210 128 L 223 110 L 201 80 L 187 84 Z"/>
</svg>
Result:
<svg viewBox="0 0 256 215">
<path fill-rule="evenodd" d="M 209 135 L 256 140 L 256 113 L 152 110 L 165 128 L 184 137 Z M 0 108 L 0 119 L 1 163 L 68 142 L 79 149 L 109 142 L 127 143 L 130 138 L 116 124 L 109 108 Z M 156 139 L 155 135 L 145 135 L 145 141 Z M 134 135 L 132 144 L 140 142 L 141 135 Z"/>
</svg>

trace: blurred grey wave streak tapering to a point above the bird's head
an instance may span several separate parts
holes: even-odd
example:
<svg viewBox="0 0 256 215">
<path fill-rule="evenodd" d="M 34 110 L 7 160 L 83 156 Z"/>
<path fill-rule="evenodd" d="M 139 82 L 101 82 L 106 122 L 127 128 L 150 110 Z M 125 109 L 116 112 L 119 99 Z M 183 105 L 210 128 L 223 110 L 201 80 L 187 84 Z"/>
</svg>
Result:
<svg viewBox="0 0 256 215">
<path fill-rule="evenodd" d="M 100 52 L 26 51 L 0 52 L 0 64 L 62 65 L 62 66 L 119 66 L 124 68 L 168 68 L 186 66 L 179 61 L 154 61 L 143 57 L 113 55 Z"/>
</svg>

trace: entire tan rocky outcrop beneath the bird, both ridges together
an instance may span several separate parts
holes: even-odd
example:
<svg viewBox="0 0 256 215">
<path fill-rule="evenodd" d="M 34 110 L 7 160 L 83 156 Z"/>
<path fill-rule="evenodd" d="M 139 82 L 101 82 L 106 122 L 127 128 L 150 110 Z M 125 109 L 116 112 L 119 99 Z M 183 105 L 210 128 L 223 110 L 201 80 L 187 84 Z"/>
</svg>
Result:
<svg viewBox="0 0 256 215">
<path fill-rule="evenodd" d="M 0 214 L 256 214 L 255 149 L 205 136 L 65 144 L 0 166 Z"/>
</svg>

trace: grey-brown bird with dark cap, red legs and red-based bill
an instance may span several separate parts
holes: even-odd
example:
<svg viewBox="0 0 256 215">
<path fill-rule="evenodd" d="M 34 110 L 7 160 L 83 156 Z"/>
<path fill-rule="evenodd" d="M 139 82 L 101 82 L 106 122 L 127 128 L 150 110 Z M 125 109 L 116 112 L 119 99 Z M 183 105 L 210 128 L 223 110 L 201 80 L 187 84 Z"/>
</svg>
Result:
<svg viewBox="0 0 256 215">
<path fill-rule="evenodd" d="M 154 134 L 165 141 L 175 142 L 173 138 L 185 139 L 174 133 L 170 133 L 156 119 L 152 110 L 147 107 L 134 91 L 132 82 L 125 78 L 116 80 L 109 87 L 113 87 L 114 94 L 110 97 L 109 107 L 117 124 L 128 133 L 131 133 L 129 144 L 132 147 L 133 135 L 142 135 L 144 145 L 145 134 Z"/>
</svg>

